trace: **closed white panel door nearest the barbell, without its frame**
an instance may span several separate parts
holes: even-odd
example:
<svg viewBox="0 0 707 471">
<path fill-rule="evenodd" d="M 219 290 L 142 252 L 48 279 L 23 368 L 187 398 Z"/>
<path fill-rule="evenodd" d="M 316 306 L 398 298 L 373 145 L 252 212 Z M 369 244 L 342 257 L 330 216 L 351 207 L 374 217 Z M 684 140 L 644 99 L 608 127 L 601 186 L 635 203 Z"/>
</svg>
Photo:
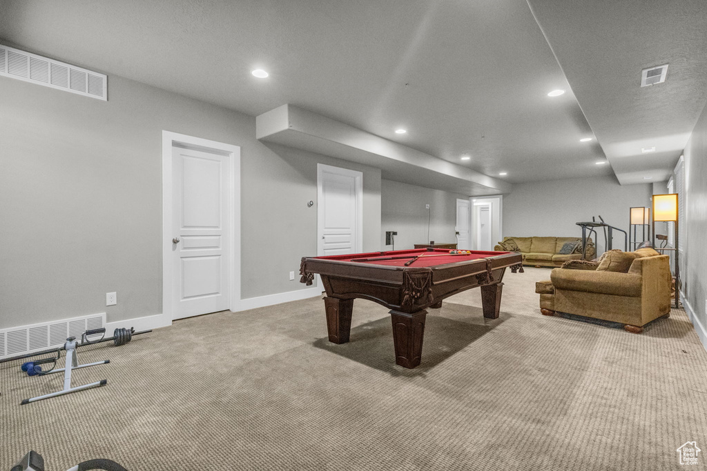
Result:
<svg viewBox="0 0 707 471">
<path fill-rule="evenodd" d="M 229 307 L 230 159 L 173 147 L 173 318 Z"/>
</svg>

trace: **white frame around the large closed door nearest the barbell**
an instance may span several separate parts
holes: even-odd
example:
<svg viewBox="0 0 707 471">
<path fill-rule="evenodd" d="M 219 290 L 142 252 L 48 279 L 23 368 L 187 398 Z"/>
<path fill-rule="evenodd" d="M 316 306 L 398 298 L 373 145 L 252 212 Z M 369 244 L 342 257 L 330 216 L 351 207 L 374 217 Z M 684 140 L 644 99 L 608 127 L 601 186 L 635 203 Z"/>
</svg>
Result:
<svg viewBox="0 0 707 471">
<path fill-rule="evenodd" d="M 182 147 L 209 150 L 230 159 L 228 184 L 228 308 L 238 311 L 240 306 L 240 147 L 209 141 L 208 139 L 187 136 L 186 134 L 162 131 L 162 316 L 169 325 L 174 317 L 172 281 L 174 266 L 172 263 L 172 148 L 177 143 Z"/>
</svg>

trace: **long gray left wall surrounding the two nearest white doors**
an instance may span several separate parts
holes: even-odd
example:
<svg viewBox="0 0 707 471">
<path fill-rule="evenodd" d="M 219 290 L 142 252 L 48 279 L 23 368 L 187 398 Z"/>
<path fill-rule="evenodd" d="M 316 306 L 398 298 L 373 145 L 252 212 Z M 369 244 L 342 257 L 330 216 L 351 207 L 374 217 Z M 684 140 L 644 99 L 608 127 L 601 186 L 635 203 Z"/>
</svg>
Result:
<svg viewBox="0 0 707 471">
<path fill-rule="evenodd" d="M 109 101 L 0 78 L 0 328 L 162 311 L 162 131 L 240 145 L 242 297 L 303 289 L 316 164 L 364 172 L 364 249 L 380 248 L 380 171 L 268 148 L 255 118 L 109 76 Z M 105 293 L 117 292 L 117 306 Z"/>
</svg>

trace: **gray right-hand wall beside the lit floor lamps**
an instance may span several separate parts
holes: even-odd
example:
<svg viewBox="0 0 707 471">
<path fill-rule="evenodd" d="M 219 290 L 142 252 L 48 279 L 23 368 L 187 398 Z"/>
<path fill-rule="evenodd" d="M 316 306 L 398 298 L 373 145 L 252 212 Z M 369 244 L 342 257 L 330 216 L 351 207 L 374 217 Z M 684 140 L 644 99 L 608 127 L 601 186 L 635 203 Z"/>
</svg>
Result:
<svg viewBox="0 0 707 471">
<path fill-rule="evenodd" d="M 678 241 L 685 243 L 682 291 L 698 321 L 707 328 L 707 108 L 692 131 L 684 156 L 686 201 L 682 204 L 686 203 L 686 221 L 679 227 Z"/>
</svg>

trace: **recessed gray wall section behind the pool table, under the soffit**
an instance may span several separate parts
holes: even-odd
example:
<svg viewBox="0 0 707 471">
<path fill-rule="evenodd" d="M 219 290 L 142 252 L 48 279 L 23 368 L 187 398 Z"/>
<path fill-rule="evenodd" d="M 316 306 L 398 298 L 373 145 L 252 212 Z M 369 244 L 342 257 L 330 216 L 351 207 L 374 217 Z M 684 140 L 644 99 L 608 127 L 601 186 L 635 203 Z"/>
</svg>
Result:
<svg viewBox="0 0 707 471">
<path fill-rule="evenodd" d="M 447 191 L 433 190 L 397 181 L 382 180 L 381 184 L 380 245 L 386 250 L 385 231 L 397 231 L 395 249 L 412 249 L 414 244 L 435 242 L 455 243 L 457 198 L 469 197 Z M 429 238 L 427 237 L 430 205 Z"/>
</svg>

